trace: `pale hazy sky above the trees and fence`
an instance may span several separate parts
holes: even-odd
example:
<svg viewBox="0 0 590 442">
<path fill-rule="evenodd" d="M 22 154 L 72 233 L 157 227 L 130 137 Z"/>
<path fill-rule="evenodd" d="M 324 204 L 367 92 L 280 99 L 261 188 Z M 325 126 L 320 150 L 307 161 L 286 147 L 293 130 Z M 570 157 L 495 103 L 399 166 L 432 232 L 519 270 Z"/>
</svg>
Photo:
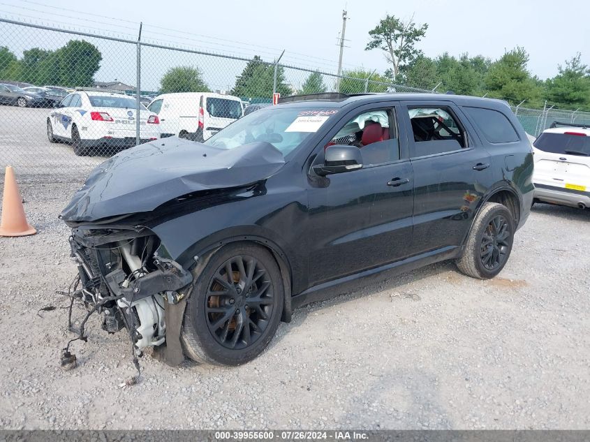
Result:
<svg viewBox="0 0 590 442">
<path fill-rule="evenodd" d="M 1 0 L 0 17 L 130 39 L 136 38 L 138 22 L 143 22 L 144 40 L 246 58 L 260 54 L 267 61 L 284 49 L 283 63 L 335 73 L 345 8 L 349 20 L 344 68 L 362 66 L 383 73 L 389 67 L 383 52 L 364 50 L 368 31 L 388 13 L 406 19 L 413 15 L 417 24 L 429 25 L 418 44 L 429 57 L 443 52 L 455 56 L 469 52 L 496 59 L 506 50 L 523 46 L 530 55 L 529 70 L 542 79 L 556 75 L 558 64 L 564 64 L 576 52 L 582 52 L 582 61 L 590 64 L 590 1 L 583 0 L 568 1 L 567 10 L 560 10 L 554 0 Z M 0 26 L 0 36 L 3 32 L 8 34 L 0 40 L 6 43 L 0 44 L 8 44 L 17 54 L 40 43 L 48 48 L 59 47 L 63 40 L 57 34 L 46 38 L 40 32 L 27 31 L 21 35 L 13 28 L 6 31 Z M 109 43 L 101 47 L 101 52 L 104 50 L 113 57 L 103 57 L 103 68 L 96 80 L 117 78 L 135 84 L 133 66 L 126 63 L 131 58 L 135 61 L 134 48 Z M 179 55 L 175 58 L 158 50 L 145 52 L 142 59 L 149 65 L 142 84 L 156 86 L 158 76 L 171 64 L 177 64 Z M 231 87 L 236 72 L 244 66 L 214 58 L 186 61 L 202 65 L 206 80 L 221 89 Z M 225 70 L 226 75 L 220 75 L 220 70 Z M 288 80 L 300 83 L 304 75 L 291 73 Z"/>
</svg>

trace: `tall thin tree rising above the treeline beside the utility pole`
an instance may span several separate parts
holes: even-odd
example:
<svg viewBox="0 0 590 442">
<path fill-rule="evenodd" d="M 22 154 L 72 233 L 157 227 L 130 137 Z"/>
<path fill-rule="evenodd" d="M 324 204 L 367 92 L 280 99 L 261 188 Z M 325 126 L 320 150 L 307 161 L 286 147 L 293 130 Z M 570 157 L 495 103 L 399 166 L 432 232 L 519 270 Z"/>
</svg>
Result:
<svg viewBox="0 0 590 442">
<path fill-rule="evenodd" d="M 393 65 L 392 80 L 395 81 L 401 66 L 411 63 L 421 54 L 415 45 L 426 35 L 427 29 L 428 24 L 417 27 L 413 16 L 404 21 L 388 14 L 369 31 L 371 40 L 364 50 L 385 51 L 385 58 Z"/>
</svg>

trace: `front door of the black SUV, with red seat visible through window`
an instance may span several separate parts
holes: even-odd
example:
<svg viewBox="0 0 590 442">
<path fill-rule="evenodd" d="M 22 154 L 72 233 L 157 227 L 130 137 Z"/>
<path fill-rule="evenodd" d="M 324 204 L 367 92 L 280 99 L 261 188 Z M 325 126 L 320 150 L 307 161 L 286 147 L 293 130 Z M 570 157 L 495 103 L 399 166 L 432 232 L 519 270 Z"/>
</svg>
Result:
<svg viewBox="0 0 590 442">
<path fill-rule="evenodd" d="M 348 112 L 318 147 L 314 164 L 323 162 L 326 145 L 344 144 L 360 148 L 363 167 L 326 177 L 308 172 L 309 286 L 408 251 L 413 177 L 405 131 L 400 143 L 396 121 L 394 103 L 366 105 Z"/>
</svg>

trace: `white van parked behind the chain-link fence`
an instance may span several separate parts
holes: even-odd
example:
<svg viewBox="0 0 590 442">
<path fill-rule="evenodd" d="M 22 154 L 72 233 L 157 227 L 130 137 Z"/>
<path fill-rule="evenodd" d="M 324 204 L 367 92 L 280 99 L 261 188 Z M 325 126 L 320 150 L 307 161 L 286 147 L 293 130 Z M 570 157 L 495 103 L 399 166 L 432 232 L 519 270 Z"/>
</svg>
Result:
<svg viewBox="0 0 590 442">
<path fill-rule="evenodd" d="M 161 94 L 147 108 L 158 114 L 161 138 L 178 135 L 201 142 L 244 115 L 237 96 L 209 92 Z"/>
</svg>

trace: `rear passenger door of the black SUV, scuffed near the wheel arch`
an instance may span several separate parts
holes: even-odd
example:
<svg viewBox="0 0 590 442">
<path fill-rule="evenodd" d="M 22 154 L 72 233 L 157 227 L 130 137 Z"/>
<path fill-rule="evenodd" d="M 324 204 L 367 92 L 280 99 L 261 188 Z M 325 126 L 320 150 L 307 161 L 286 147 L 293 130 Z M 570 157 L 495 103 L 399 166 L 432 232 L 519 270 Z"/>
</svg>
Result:
<svg viewBox="0 0 590 442">
<path fill-rule="evenodd" d="M 489 153 L 450 101 L 406 101 L 414 171 L 412 253 L 462 243 L 480 198 L 492 184 Z"/>
</svg>

